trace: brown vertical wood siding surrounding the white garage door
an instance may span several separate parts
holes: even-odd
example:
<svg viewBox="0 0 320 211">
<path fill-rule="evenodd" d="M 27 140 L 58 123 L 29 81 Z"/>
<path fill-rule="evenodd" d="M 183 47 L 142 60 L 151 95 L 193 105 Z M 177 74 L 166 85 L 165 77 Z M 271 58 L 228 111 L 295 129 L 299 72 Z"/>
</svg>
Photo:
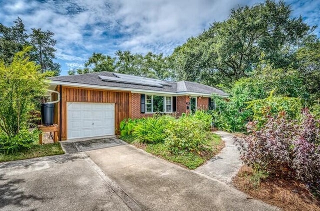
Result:
<svg viewBox="0 0 320 211">
<path fill-rule="evenodd" d="M 59 90 L 59 87 L 57 87 Z M 119 124 L 122 119 L 129 117 L 130 93 L 120 91 L 109 91 L 100 89 L 86 89 L 78 87 L 62 86 L 61 103 L 62 103 L 62 122 L 61 122 L 61 140 L 67 138 L 67 102 L 98 102 L 115 104 L 115 134 L 118 134 Z M 54 121 L 59 122 L 59 104 L 56 103 L 58 112 L 55 112 Z"/>
</svg>

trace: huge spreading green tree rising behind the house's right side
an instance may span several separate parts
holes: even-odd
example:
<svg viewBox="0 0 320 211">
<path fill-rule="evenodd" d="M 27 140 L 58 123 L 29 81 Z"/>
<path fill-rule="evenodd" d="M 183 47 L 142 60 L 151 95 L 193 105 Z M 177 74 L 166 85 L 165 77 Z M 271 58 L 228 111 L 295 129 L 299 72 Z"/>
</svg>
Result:
<svg viewBox="0 0 320 211">
<path fill-rule="evenodd" d="M 177 47 L 171 59 L 179 79 L 229 86 L 250 75 L 261 53 L 275 68 L 287 67 L 312 30 L 301 17 L 292 18 L 283 1 L 266 0 L 233 9 L 227 20 Z"/>
</svg>

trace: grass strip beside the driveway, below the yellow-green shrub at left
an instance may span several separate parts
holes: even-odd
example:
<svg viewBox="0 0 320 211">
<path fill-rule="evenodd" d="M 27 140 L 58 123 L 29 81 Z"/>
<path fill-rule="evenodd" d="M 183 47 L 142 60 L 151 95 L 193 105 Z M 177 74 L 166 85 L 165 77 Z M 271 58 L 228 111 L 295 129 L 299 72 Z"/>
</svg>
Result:
<svg viewBox="0 0 320 211">
<path fill-rule="evenodd" d="M 43 145 L 34 144 L 31 148 L 24 151 L 4 154 L 0 153 L 0 162 L 18 160 L 18 159 L 28 159 L 32 157 L 42 157 L 56 154 L 64 154 L 60 143 L 48 143 Z"/>
</svg>

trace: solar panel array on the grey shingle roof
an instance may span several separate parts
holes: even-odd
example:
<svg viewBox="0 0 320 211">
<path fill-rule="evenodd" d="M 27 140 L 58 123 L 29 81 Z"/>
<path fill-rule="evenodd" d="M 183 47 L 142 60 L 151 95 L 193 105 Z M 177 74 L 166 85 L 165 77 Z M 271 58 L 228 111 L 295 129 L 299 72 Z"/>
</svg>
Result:
<svg viewBox="0 0 320 211">
<path fill-rule="evenodd" d="M 134 75 L 121 74 L 121 73 L 113 73 L 113 75 L 115 75 L 116 77 L 99 75 L 99 78 L 103 81 L 147 85 L 147 86 L 154 86 L 154 87 L 161 87 L 161 88 L 164 88 L 164 86 L 171 86 L 171 84 L 165 81 L 153 79 L 153 78 L 146 78 L 146 77 L 140 77 L 140 76 L 134 76 Z"/>
</svg>

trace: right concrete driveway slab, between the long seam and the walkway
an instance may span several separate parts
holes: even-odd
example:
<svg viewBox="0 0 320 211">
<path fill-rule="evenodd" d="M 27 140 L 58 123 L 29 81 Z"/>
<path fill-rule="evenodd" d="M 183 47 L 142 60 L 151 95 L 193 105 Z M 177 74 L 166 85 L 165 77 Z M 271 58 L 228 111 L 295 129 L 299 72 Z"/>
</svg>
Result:
<svg viewBox="0 0 320 211">
<path fill-rule="evenodd" d="M 145 210 L 279 210 L 132 145 L 85 153 Z"/>
</svg>

